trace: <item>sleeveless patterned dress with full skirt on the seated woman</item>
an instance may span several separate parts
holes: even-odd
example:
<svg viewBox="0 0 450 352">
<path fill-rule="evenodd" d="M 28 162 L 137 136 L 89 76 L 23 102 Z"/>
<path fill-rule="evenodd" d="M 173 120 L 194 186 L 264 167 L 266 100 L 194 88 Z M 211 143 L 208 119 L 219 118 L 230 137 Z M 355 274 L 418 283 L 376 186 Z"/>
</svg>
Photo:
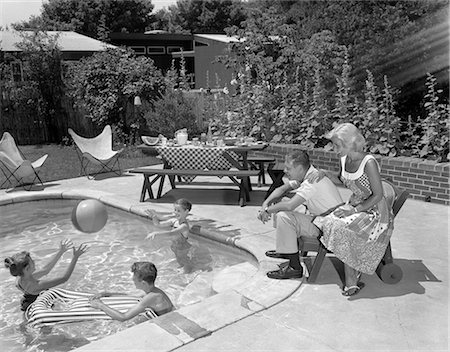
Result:
<svg viewBox="0 0 450 352">
<path fill-rule="evenodd" d="M 352 206 L 357 206 L 372 194 L 369 177 L 364 172 L 366 163 L 371 159 L 375 160 L 372 155 L 366 155 L 358 170 L 350 173 L 345 171 L 346 156 L 341 158 L 341 180 L 353 192 L 348 201 Z M 392 230 L 392 209 L 383 196 L 380 202 L 365 212 L 344 218 L 327 215 L 322 219 L 323 237 L 320 240 L 345 264 L 363 273 L 373 274 L 383 258 Z"/>
</svg>

